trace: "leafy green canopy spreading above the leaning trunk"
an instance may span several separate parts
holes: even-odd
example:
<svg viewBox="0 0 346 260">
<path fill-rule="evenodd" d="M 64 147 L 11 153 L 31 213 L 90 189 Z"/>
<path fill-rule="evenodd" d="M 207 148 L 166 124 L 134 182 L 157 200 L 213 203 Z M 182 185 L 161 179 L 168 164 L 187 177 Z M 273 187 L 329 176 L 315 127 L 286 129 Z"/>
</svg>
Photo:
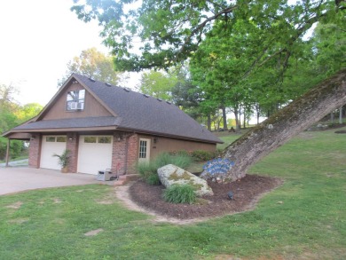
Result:
<svg viewBox="0 0 346 260">
<path fill-rule="evenodd" d="M 254 106 L 270 115 L 344 67 L 345 10 L 344 1 L 330 0 L 76 0 L 72 7 L 79 19 L 104 27 L 120 70 L 169 69 L 191 60 L 190 81 L 172 94 L 200 119 L 220 107 L 236 117 L 240 111 L 248 117 Z M 334 28 L 320 30 L 326 33 L 311 45 L 304 35 L 316 23 Z M 138 36 L 143 44 L 137 47 Z"/>
</svg>

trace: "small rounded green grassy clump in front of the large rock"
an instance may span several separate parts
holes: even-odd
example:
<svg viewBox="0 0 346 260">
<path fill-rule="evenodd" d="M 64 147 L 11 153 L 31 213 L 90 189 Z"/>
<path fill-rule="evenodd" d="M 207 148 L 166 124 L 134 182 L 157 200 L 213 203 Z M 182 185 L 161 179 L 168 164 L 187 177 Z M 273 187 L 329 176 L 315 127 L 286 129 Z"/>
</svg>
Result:
<svg viewBox="0 0 346 260">
<path fill-rule="evenodd" d="M 164 190 L 163 199 L 171 203 L 193 204 L 196 194 L 191 185 L 171 185 Z"/>
</svg>

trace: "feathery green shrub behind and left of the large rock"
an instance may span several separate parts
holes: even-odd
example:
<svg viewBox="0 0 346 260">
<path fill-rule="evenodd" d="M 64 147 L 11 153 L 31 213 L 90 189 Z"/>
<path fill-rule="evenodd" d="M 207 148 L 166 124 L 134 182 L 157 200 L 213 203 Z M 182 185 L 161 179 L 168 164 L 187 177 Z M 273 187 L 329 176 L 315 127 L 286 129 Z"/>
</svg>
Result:
<svg viewBox="0 0 346 260">
<path fill-rule="evenodd" d="M 157 185 L 157 169 L 167 165 L 174 164 L 180 168 L 186 168 L 192 163 L 192 159 L 187 154 L 172 155 L 169 153 L 159 154 L 153 161 L 139 162 L 137 165 L 138 173 L 145 182 L 151 185 Z M 157 177 L 157 178 L 156 178 Z"/>
</svg>

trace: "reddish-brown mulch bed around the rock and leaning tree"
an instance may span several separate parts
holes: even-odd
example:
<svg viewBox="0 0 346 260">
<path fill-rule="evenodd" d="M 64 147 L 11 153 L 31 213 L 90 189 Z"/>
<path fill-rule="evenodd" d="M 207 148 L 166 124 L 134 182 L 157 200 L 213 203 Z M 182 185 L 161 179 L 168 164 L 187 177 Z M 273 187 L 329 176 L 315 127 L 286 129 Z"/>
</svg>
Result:
<svg viewBox="0 0 346 260">
<path fill-rule="evenodd" d="M 174 204 L 162 200 L 163 185 L 148 185 L 138 180 L 130 186 L 130 198 L 138 205 L 165 217 L 191 219 L 198 217 L 217 217 L 252 209 L 263 193 L 282 184 L 275 177 L 247 175 L 240 181 L 230 184 L 208 182 L 214 196 L 204 196 L 201 204 Z M 229 200 L 227 193 L 232 191 L 234 200 Z"/>
</svg>

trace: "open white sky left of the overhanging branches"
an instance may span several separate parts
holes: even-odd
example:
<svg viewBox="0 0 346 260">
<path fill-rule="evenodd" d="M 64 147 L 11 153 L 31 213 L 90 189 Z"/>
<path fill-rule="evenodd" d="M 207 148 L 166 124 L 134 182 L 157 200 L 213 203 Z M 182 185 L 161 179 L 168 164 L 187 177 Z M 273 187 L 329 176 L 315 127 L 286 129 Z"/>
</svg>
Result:
<svg viewBox="0 0 346 260">
<path fill-rule="evenodd" d="M 83 50 L 109 52 L 97 21 L 78 20 L 72 5 L 72 0 L 0 1 L 0 84 L 17 87 L 14 98 L 21 105 L 45 106 L 68 61 Z"/>
</svg>

